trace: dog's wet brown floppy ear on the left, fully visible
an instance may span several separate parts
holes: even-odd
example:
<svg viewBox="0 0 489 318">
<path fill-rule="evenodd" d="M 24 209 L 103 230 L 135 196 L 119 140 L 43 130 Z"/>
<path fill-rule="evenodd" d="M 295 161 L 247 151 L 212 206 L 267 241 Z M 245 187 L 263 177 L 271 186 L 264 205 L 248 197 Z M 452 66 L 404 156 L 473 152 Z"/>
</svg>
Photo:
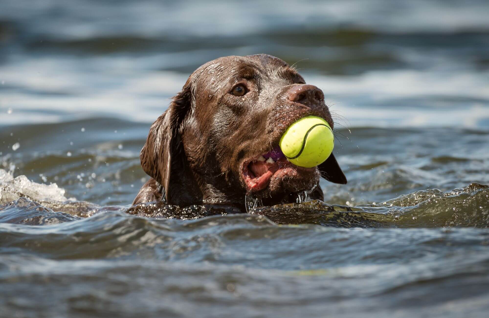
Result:
<svg viewBox="0 0 489 318">
<path fill-rule="evenodd" d="M 187 82 L 168 106 L 168 109 L 151 125 L 139 158 L 144 172 L 165 188 L 165 199 L 169 202 L 172 171 L 183 170 L 181 160 L 185 157 L 180 128 L 185 114 L 190 109 L 191 90 Z"/>
</svg>

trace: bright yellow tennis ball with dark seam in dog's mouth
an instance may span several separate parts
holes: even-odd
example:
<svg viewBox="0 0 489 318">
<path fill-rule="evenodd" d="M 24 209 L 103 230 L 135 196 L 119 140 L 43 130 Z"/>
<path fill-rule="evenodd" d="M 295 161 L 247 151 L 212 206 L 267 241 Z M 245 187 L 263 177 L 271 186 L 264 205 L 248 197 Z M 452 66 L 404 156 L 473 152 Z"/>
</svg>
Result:
<svg viewBox="0 0 489 318">
<path fill-rule="evenodd" d="M 312 168 L 323 163 L 333 152 L 333 131 L 321 117 L 303 117 L 287 128 L 279 146 L 290 162 Z"/>
</svg>

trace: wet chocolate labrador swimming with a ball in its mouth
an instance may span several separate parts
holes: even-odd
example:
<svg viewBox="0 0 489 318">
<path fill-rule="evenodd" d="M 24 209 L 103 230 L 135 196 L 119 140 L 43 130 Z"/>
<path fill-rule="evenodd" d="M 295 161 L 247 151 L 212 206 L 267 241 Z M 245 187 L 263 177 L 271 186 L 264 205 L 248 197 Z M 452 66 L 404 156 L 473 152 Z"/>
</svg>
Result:
<svg viewBox="0 0 489 318">
<path fill-rule="evenodd" d="M 152 179 L 133 204 L 243 208 L 246 194 L 273 205 L 308 190 L 322 200 L 320 177 L 346 183 L 333 154 L 302 168 L 278 147 L 289 125 L 308 115 L 333 128 L 323 92 L 279 58 L 226 56 L 202 65 L 150 128 L 140 158 Z"/>
</svg>

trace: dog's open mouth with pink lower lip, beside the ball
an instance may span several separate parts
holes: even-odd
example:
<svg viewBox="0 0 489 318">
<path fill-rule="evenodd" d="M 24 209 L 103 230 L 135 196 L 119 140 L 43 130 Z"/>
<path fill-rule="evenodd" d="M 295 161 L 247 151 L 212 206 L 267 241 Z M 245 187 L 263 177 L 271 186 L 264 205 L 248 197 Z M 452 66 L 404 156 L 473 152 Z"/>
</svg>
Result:
<svg viewBox="0 0 489 318">
<path fill-rule="evenodd" d="M 283 177 L 294 174 L 311 173 L 315 167 L 304 168 L 291 163 L 279 147 L 273 148 L 257 158 L 243 163 L 243 179 L 249 190 L 259 191 L 267 187 L 272 177 Z"/>
</svg>

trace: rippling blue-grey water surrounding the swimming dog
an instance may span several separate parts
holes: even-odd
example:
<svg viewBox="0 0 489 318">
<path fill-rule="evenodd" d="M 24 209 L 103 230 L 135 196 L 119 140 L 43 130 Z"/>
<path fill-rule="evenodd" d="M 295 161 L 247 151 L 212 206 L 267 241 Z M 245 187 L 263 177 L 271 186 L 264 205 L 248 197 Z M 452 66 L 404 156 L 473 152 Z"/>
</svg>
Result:
<svg viewBox="0 0 489 318">
<path fill-rule="evenodd" d="M 300 14 L 298 14 L 300 12 Z M 486 317 L 487 1 L 0 4 L 0 317 Z M 296 64 L 325 203 L 132 207 L 188 74 Z"/>
</svg>

